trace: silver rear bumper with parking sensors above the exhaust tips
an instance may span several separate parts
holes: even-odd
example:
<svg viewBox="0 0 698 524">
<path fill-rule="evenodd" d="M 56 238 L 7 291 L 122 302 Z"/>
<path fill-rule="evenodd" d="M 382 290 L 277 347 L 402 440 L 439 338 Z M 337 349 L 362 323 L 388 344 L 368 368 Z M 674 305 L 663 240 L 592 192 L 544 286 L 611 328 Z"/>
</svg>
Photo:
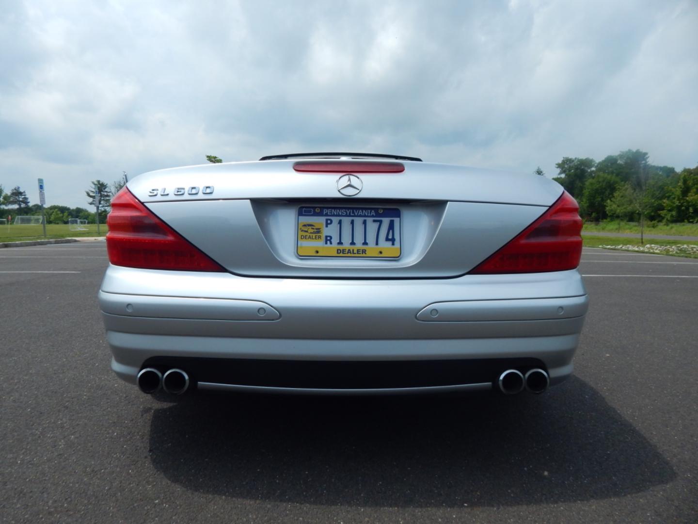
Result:
<svg viewBox="0 0 698 524">
<path fill-rule="evenodd" d="M 479 365 L 485 360 L 530 358 L 540 361 L 551 384 L 556 384 L 572 372 L 588 307 L 577 271 L 356 281 L 117 266 L 107 270 L 99 302 L 112 348 L 112 369 L 131 383 L 151 358 L 377 365 L 401 361 Z M 202 388 L 279 389 L 274 384 L 198 380 Z M 299 386 L 287 384 L 283 391 L 334 389 Z M 436 387 L 454 386 L 489 388 L 491 379 Z M 353 391 L 360 389 L 375 393 L 380 388 Z M 408 388 L 381 391 L 390 389 Z"/>
</svg>

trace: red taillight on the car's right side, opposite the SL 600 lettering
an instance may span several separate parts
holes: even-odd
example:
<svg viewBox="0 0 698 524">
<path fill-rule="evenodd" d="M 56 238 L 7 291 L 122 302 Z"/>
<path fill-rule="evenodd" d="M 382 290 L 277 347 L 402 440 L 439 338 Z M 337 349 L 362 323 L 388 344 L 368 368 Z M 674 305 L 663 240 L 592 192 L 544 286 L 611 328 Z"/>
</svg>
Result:
<svg viewBox="0 0 698 524">
<path fill-rule="evenodd" d="M 581 257 L 579 205 L 567 191 L 470 274 L 535 273 L 577 268 Z"/>
</svg>

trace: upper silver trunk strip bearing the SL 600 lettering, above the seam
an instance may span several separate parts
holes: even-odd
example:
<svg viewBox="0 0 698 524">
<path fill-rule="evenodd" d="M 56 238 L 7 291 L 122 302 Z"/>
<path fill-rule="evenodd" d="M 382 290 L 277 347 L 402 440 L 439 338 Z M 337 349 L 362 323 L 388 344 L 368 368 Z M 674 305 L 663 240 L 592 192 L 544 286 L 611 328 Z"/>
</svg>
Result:
<svg viewBox="0 0 698 524">
<path fill-rule="evenodd" d="M 163 169 L 138 175 L 128 182 L 128 189 L 143 203 L 265 198 L 322 200 L 341 197 L 336 187 L 341 173 L 297 173 L 293 170 L 294 163 L 292 160 L 272 160 Z M 358 196 L 379 201 L 389 198 L 547 207 L 562 192 L 560 186 L 547 177 L 440 163 L 401 163 L 405 166 L 403 173 L 359 175 L 364 183 Z M 184 189 L 183 194 L 174 194 L 177 187 Z M 200 189 L 197 194 L 189 194 L 190 187 L 212 187 L 214 191 L 203 194 L 203 189 Z M 157 196 L 150 196 L 154 189 L 158 191 Z"/>
</svg>

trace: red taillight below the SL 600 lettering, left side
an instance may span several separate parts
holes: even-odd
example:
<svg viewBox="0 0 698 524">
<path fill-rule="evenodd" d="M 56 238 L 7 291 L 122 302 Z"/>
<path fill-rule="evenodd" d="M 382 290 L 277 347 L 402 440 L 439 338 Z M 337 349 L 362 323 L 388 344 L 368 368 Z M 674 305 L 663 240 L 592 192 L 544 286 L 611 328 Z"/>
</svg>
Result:
<svg viewBox="0 0 698 524">
<path fill-rule="evenodd" d="M 156 217 L 126 187 L 112 199 L 107 254 L 114 265 L 180 271 L 225 271 Z"/>
</svg>

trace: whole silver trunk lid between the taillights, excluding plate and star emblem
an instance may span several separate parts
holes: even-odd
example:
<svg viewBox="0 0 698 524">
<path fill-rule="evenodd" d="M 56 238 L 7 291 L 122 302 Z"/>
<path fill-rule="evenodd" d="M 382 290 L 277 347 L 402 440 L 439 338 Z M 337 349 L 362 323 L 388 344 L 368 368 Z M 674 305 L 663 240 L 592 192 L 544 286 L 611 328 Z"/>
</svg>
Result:
<svg viewBox="0 0 698 524">
<path fill-rule="evenodd" d="M 128 189 L 237 275 L 383 279 L 464 275 L 562 193 L 546 177 L 406 161 L 403 173 L 362 174 L 361 193 L 345 197 L 336 187 L 341 173 L 297 173 L 294 163 L 166 169 L 135 177 Z M 297 256 L 297 210 L 303 205 L 399 208 L 400 258 Z"/>
</svg>

